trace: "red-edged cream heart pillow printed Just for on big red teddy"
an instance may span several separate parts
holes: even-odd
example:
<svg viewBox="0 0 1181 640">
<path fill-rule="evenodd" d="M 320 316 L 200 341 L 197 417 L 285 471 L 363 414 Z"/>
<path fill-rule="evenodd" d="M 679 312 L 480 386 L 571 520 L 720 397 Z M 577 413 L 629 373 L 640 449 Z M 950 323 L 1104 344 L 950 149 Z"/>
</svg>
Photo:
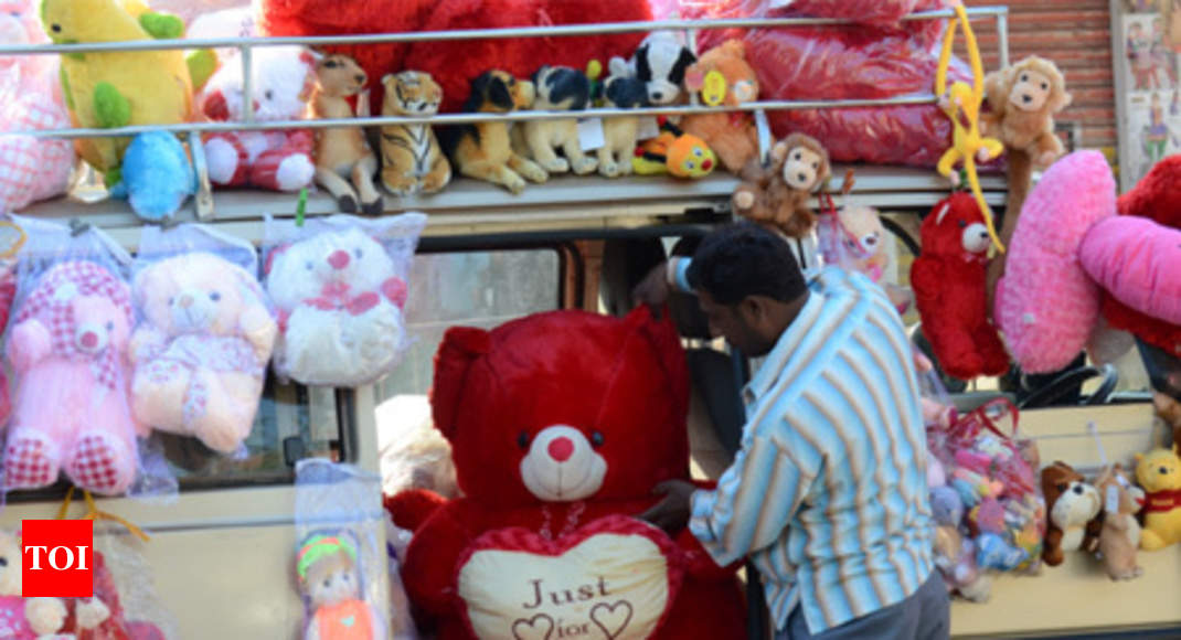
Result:
<svg viewBox="0 0 1181 640">
<path fill-rule="evenodd" d="M 459 557 L 456 585 L 476 638 L 648 638 L 683 563 L 664 531 L 611 515 L 557 540 L 489 531 Z"/>
</svg>

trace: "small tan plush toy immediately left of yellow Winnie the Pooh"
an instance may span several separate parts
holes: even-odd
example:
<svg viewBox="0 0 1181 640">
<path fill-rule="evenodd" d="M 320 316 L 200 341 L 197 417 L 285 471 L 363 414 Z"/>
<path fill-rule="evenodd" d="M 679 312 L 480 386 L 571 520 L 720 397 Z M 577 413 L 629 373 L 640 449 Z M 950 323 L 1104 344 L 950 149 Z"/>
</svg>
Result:
<svg viewBox="0 0 1181 640">
<path fill-rule="evenodd" d="M 1118 464 L 1104 469 L 1095 481 L 1095 486 L 1104 501 L 1098 550 L 1103 555 L 1108 577 L 1138 577 L 1143 569 L 1136 564 L 1136 549 L 1140 548 L 1140 522 L 1136 521 L 1136 514 L 1143 507 L 1144 492 L 1131 484 L 1123 466 Z"/>
</svg>

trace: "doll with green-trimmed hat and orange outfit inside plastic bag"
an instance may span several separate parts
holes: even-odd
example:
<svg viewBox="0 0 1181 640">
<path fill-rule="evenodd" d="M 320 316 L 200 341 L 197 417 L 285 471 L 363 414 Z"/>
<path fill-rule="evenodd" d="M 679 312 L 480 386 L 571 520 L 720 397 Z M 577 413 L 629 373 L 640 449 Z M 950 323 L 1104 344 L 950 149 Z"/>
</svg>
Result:
<svg viewBox="0 0 1181 640">
<path fill-rule="evenodd" d="M 365 600 L 357 570 L 357 544 L 344 534 L 313 534 L 295 556 L 311 620 L 306 640 L 377 640 L 385 625 Z"/>
</svg>

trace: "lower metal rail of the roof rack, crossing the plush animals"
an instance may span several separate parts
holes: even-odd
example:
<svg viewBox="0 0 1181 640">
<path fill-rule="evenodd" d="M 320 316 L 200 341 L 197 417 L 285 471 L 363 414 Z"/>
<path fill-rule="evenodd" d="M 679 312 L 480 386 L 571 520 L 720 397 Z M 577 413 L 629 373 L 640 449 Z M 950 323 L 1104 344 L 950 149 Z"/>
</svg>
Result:
<svg viewBox="0 0 1181 640">
<path fill-rule="evenodd" d="M 907 106 L 934 104 L 933 94 L 908 96 L 902 98 L 874 98 L 863 100 L 763 100 L 745 103 L 739 106 L 691 106 L 668 105 L 645 109 L 588 109 L 585 111 L 514 111 L 511 113 L 439 113 L 436 116 L 394 117 L 374 116 L 370 118 L 325 118 L 308 120 L 275 120 L 255 123 L 181 123 L 171 125 L 120 126 L 118 129 L 46 129 L 38 131 L 12 131 L 12 135 L 33 136 L 37 138 L 112 138 L 136 136 L 146 131 L 170 131 L 183 133 L 196 131 L 215 133 L 226 131 L 270 131 L 276 129 L 327 129 L 340 126 L 391 126 L 405 124 L 474 124 L 482 122 L 518 122 L 518 120 L 559 120 L 570 118 L 611 118 L 618 116 L 658 116 L 687 113 L 730 113 L 733 111 L 800 111 L 810 109 L 855 109 L 862 106 Z"/>
</svg>

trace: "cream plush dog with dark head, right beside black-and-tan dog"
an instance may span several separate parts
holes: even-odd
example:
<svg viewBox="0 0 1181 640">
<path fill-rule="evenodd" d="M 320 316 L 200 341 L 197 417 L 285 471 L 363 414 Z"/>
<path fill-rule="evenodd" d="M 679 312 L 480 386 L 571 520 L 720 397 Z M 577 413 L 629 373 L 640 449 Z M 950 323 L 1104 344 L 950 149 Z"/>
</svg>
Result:
<svg viewBox="0 0 1181 640">
<path fill-rule="evenodd" d="M 582 111 L 590 102 L 590 80 L 581 71 L 566 66 L 543 66 L 533 76 L 536 96 L 533 109 L 537 111 Z M 565 158 L 557 157 L 556 149 Z M 579 123 L 562 120 L 533 120 L 513 128 L 513 150 L 529 156 L 550 174 L 574 170 L 585 176 L 598 166 L 598 161 L 582 152 Z"/>
</svg>

